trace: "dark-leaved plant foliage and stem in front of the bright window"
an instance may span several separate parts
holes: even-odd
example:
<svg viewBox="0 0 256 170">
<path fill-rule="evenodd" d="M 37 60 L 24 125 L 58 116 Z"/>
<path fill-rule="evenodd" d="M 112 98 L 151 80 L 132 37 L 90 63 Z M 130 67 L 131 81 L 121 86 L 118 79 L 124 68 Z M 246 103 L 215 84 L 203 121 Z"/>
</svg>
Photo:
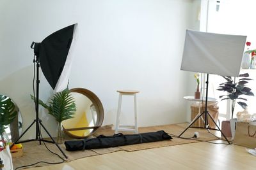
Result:
<svg viewBox="0 0 256 170">
<path fill-rule="evenodd" d="M 219 86 L 220 91 L 227 92 L 226 95 L 220 96 L 221 101 L 230 99 L 231 100 L 231 118 L 233 118 L 234 115 L 234 110 L 236 106 L 237 99 L 239 101 L 237 104 L 239 104 L 243 109 L 246 108 L 247 104 L 242 102 L 242 101 L 247 101 L 247 99 L 240 97 L 241 95 L 246 95 L 246 96 L 254 96 L 253 92 L 251 91 L 249 87 L 246 87 L 246 84 L 248 83 L 249 80 L 252 80 L 252 78 L 248 78 L 249 74 L 240 74 L 239 75 L 239 80 L 236 80 L 236 77 L 231 77 L 231 76 L 222 76 L 227 80 L 225 83 L 221 83 Z"/>
</svg>

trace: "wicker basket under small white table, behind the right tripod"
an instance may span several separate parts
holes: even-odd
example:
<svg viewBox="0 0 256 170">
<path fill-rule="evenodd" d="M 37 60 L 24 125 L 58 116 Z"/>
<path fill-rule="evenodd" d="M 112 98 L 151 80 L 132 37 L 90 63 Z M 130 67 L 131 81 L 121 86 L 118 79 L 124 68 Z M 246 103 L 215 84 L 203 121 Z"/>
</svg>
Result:
<svg viewBox="0 0 256 170">
<path fill-rule="evenodd" d="M 198 115 L 199 107 L 200 107 L 200 113 L 202 113 L 205 110 L 205 105 L 202 106 L 202 103 L 200 105 L 199 104 L 191 104 L 191 106 L 190 106 L 191 121 L 196 117 L 196 115 Z M 212 118 L 214 118 L 214 121 L 218 122 L 219 106 L 217 106 L 217 102 L 208 102 L 207 103 L 207 111 L 209 111 Z M 202 118 L 204 120 L 204 115 L 202 115 Z M 196 122 L 193 125 L 191 125 L 191 127 L 204 127 L 204 121 L 202 120 L 202 118 L 198 118 L 198 120 L 196 120 Z M 214 122 L 212 122 L 209 115 L 208 115 L 207 119 L 209 122 L 209 127 L 215 128 L 216 125 L 214 124 Z"/>
</svg>

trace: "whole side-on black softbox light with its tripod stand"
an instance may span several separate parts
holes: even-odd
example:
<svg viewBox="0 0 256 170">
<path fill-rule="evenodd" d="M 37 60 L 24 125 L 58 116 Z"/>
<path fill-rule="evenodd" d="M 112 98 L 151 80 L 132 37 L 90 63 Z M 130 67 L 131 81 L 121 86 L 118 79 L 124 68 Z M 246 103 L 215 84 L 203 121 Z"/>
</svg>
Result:
<svg viewBox="0 0 256 170">
<path fill-rule="evenodd" d="M 41 66 L 42 72 L 46 80 L 51 85 L 52 89 L 55 92 L 60 92 L 67 88 L 68 84 L 68 75 L 70 73 L 70 68 L 72 64 L 72 57 L 74 55 L 74 43 L 76 40 L 76 31 L 77 23 L 69 25 L 59 31 L 52 33 L 47 36 L 41 43 L 33 42 L 31 48 L 34 49 L 35 57 L 34 70 L 36 64 L 36 97 L 35 97 L 35 110 L 36 110 L 36 119 L 32 122 L 31 125 L 20 135 L 20 137 L 13 143 L 26 143 L 29 141 L 41 141 L 47 143 L 54 143 L 60 152 L 67 159 L 67 155 L 61 150 L 60 146 L 54 141 L 51 134 L 47 131 L 45 126 L 40 120 L 39 113 L 39 67 Z M 35 74 L 34 74 L 35 75 Z M 35 78 L 35 77 L 34 77 Z M 35 80 L 35 79 L 34 79 Z M 34 91 L 35 92 L 35 91 Z M 35 96 L 35 94 L 34 94 Z M 28 139 L 24 141 L 19 141 L 20 138 L 32 127 L 33 124 L 36 124 L 36 136 L 35 139 Z M 41 127 L 51 138 L 51 141 L 45 140 L 42 138 Z M 19 141 L 19 142 L 18 142 Z M 13 146 L 12 145 L 12 146 Z M 12 147 L 11 146 L 11 147 Z"/>
</svg>

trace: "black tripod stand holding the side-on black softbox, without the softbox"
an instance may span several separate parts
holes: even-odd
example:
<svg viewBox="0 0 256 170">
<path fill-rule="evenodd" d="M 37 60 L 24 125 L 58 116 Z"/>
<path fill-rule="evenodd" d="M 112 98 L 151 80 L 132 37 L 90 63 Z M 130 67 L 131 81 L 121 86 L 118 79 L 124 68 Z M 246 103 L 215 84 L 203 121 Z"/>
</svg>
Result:
<svg viewBox="0 0 256 170">
<path fill-rule="evenodd" d="M 52 138 L 51 134 L 47 131 L 47 129 L 45 128 L 45 126 L 42 124 L 42 120 L 40 120 L 39 118 L 39 83 L 40 83 L 40 80 L 39 80 L 39 67 L 40 67 L 40 64 L 39 64 L 39 57 L 38 57 L 38 52 L 36 52 L 38 50 L 38 46 L 37 46 L 38 43 L 35 43 L 33 42 L 31 44 L 31 48 L 34 49 L 35 51 L 35 56 L 36 56 L 36 59 L 33 60 L 34 64 L 36 63 L 36 104 L 35 104 L 35 110 L 36 110 L 36 119 L 32 122 L 31 125 L 29 125 L 29 127 L 20 135 L 20 137 L 15 141 L 13 142 L 13 145 L 15 143 L 26 143 L 26 142 L 30 142 L 30 141 L 39 141 L 40 145 L 41 145 L 41 141 L 44 141 L 44 142 L 47 142 L 47 143 L 54 143 L 58 149 L 60 150 L 60 152 L 64 155 L 64 157 L 67 159 L 67 155 L 63 152 L 63 150 L 60 148 L 60 146 L 56 143 L 56 141 L 54 141 L 54 139 Z M 35 45 L 35 46 L 34 46 Z M 38 44 L 39 45 L 39 44 Z M 24 141 L 19 141 L 20 138 L 22 138 L 22 136 L 24 134 L 26 134 L 26 132 L 32 127 L 33 124 L 36 124 L 36 137 L 35 139 L 28 139 L 28 140 L 24 140 Z M 48 136 L 51 138 L 51 141 L 48 141 L 48 140 L 45 140 L 45 139 L 42 139 L 41 138 L 41 135 L 40 135 L 40 130 L 41 130 L 41 127 L 43 127 L 44 131 L 48 134 Z M 19 142 L 18 142 L 19 141 Z M 13 146 L 12 145 L 12 146 Z M 12 148 L 11 146 L 11 148 Z"/>
</svg>

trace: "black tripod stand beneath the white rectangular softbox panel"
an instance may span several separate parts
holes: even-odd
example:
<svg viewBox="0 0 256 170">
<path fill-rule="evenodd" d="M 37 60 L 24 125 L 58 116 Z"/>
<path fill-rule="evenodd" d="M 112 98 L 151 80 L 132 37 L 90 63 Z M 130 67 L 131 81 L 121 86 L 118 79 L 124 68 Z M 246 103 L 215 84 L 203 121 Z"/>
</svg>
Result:
<svg viewBox="0 0 256 170">
<path fill-rule="evenodd" d="M 207 80 L 206 80 L 206 96 L 205 96 L 205 110 L 201 113 L 198 114 L 193 120 L 192 122 L 188 125 L 188 127 L 179 135 L 182 136 L 182 134 L 184 134 L 184 132 L 186 132 L 189 127 L 191 127 L 191 125 L 193 125 L 196 120 L 198 120 L 200 117 L 204 116 L 204 129 L 207 129 L 207 131 L 209 130 L 214 130 L 214 131 L 220 131 L 222 136 L 225 138 L 225 140 L 227 141 L 228 144 L 231 144 L 230 141 L 228 141 L 227 137 L 225 136 L 225 134 L 223 134 L 223 132 L 221 131 L 220 127 L 216 124 L 216 122 L 214 121 L 214 118 L 212 118 L 212 115 L 209 113 L 209 111 L 207 111 L 207 99 L 208 99 L 208 84 L 209 84 L 209 74 L 207 74 Z M 199 106 L 200 107 L 200 106 Z M 212 122 L 214 122 L 214 124 L 216 125 L 217 129 L 213 129 L 211 127 L 209 127 L 209 122 L 208 122 L 208 116 L 211 118 Z M 196 128 L 196 127 L 193 127 Z M 201 128 L 201 127 L 198 127 Z"/>
</svg>

